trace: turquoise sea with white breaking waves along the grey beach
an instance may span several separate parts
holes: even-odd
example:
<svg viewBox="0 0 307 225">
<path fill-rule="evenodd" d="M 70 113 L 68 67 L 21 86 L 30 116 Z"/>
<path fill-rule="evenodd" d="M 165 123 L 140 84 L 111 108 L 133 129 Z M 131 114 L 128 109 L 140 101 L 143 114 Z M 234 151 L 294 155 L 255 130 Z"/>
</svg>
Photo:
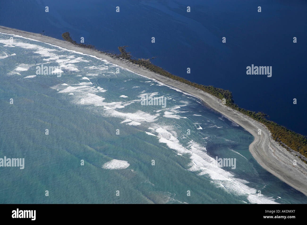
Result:
<svg viewBox="0 0 307 225">
<path fill-rule="evenodd" d="M 199 99 L 10 37 L 0 33 L 0 158 L 25 158 L 25 168 L 0 167 L 0 203 L 307 203 L 255 161 L 250 133 Z M 37 75 L 41 64 L 61 67 L 61 77 Z M 141 105 L 146 95 L 166 97 L 166 107 Z"/>
</svg>

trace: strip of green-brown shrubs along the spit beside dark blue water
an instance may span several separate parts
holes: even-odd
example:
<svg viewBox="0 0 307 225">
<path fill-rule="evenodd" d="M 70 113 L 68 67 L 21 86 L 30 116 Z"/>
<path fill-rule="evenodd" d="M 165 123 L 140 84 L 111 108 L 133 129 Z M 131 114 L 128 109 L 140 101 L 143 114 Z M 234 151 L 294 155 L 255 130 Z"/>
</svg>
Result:
<svg viewBox="0 0 307 225">
<path fill-rule="evenodd" d="M 76 41 L 72 40 L 70 37 L 69 33 L 63 33 L 62 37 L 64 40 L 71 42 L 72 44 L 79 45 L 80 47 L 84 48 L 90 48 L 95 51 L 99 51 L 95 48 L 93 45 L 88 45 L 88 44 L 78 44 Z M 226 104 L 232 109 L 235 109 L 252 119 L 264 124 L 271 132 L 273 139 L 277 141 L 282 147 L 286 148 L 287 151 L 297 151 L 300 154 L 304 155 L 307 157 L 307 139 L 306 136 L 295 133 L 289 129 L 287 129 L 284 126 L 278 125 L 273 121 L 270 121 L 266 119 L 267 115 L 263 112 L 253 112 L 250 110 L 246 110 L 243 108 L 240 108 L 237 104 L 234 103 L 234 100 L 232 99 L 232 93 L 229 90 L 223 90 L 221 88 L 216 88 L 213 86 L 205 86 L 201 84 L 197 84 L 191 81 L 188 81 L 184 78 L 175 76 L 168 71 L 165 71 L 163 68 L 158 67 L 150 62 L 150 59 L 132 59 L 131 52 L 126 51 L 126 47 L 128 46 L 122 46 L 118 47 L 119 51 L 121 54 L 115 54 L 115 53 L 108 53 L 106 51 L 100 51 L 104 54 L 107 54 L 113 58 L 119 58 L 119 59 L 125 59 L 131 63 L 137 64 L 138 66 L 145 67 L 146 69 L 155 72 L 157 74 L 160 74 L 162 76 L 169 77 L 173 80 L 185 83 L 189 86 L 192 86 L 194 88 L 197 88 L 199 90 L 202 90 L 204 92 L 207 92 L 209 94 L 212 94 L 213 96 L 219 98 L 222 100 L 223 98 L 226 99 Z M 298 156 L 298 158 L 301 158 Z M 303 160 L 303 159 L 302 159 Z M 307 163 L 305 160 L 303 162 Z"/>
</svg>

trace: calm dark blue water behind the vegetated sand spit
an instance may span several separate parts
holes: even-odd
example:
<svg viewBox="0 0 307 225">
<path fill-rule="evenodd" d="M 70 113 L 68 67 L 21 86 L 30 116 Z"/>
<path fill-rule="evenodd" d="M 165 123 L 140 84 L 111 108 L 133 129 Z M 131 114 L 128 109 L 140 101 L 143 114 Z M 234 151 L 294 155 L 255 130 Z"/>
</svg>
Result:
<svg viewBox="0 0 307 225">
<path fill-rule="evenodd" d="M 302 0 L 1 1 L 0 25 L 59 39 L 70 32 L 102 50 L 129 45 L 133 56 L 158 56 L 153 63 L 167 71 L 230 90 L 240 107 L 307 135 L 306 6 Z M 247 75 L 251 64 L 272 66 L 272 77 Z"/>
</svg>

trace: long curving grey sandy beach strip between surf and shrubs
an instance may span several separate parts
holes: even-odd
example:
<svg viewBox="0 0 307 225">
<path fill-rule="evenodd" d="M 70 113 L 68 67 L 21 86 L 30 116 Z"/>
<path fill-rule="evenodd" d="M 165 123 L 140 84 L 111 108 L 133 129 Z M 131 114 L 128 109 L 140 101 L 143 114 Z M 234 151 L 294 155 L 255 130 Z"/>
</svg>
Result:
<svg viewBox="0 0 307 225">
<path fill-rule="evenodd" d="M 125 59 L 112 58 L 107 54 L 103 54 L 98 50 L 91 50 L 76 46 L 68 41 L 58 40 L 49 36 L 41 34 L 25 32 L 17 29 L 11 29 L 0 26 L 0 32 L 6 34 L 19 35 L 29 39 L 41 41 L 47 44 L 55 45 L 68 50 L 76 51 L 77 53 L 83 53 L 96 56 L 100 59 L 105 59 L 110 63 L 116 64 L 127 70 L 130 70 L 136 74 L 145 76 L 147 78 L 155 79 L 164 83 L 167 86 L 174 87 L 183 92 L 189 93 L 201 101 L 205 102 L 210 108 L 220 112 L 227 118 L 233 120 L 241 127 L 246 129 L 251 135 L 254 136 L 254 141 L 249 146 L 249 151 L 256 159 L 256 161 L 268 172 L 284 181 L 286 184 L 297 189 L 301 193 L 307 196 L 307 165 L 302 162 L 295 154 L 302 156 L 298 152 L 289 152 L 285 148 L 281 147 L 266 128 L 265 125 L 252 119 L 251 117 L 244 115 L 241 112 L 231 109 L 230 107 L 223 105 L 222 101 L 213 95 L 196 89 L 195 87 L 188 86 L 182 82 L 173 80 L 171 78 L 162 76 L 160 74 L 149 71 L 144 67 L 139 67 Z M 258 129 L 262 130 L 262 134 L 258 135 Z M 297 160 L 297 165 L 293 166 L 293 160 Z"/>
</svg>

